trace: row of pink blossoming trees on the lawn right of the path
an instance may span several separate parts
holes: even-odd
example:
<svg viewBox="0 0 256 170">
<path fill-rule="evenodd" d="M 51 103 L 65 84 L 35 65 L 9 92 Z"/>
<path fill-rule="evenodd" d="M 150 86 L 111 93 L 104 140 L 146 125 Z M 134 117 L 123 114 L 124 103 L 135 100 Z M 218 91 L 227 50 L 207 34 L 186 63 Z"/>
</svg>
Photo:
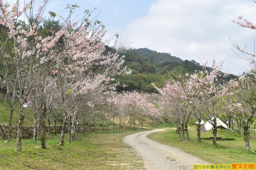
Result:
<svg viewBox="0 0 256 170">
<path fill-rule="evenodd" d="M 202 118 L 212 121 L 213 125 L 213 144 L 216 144 L 217 138 L 217 122 L 216 118 L 221 115 L 223 108 L 223 99 L 225 96 L 233 94 L 232 89 L 238 86 L 236 80 L 231 79 L 224 82 L 220 77 L 226 77 L 227 74 L 221 75 L 222 63 L 217 65 L 213 61 L 212 69 L 204 69 L 204 71 L 196 71 L 195 74 L 188 75 L 187 78 L 178 77 L 177 81 L 166 82 L 165 88 L 157 88 L 163 96 L 163 100 L 169 105 L 179 108 L 180 113 L 176 111 L 177 117 L 186 115 L 185 120 L 189 119 L 191 113 L 198 119 L 198 141 L 200 137 L 200 122 Z M 179 103 L 177 103 L 179 101 Z M 183 109 L 182 109 L 183 108 Z M 186 114 L 185 114 L 186 113 Z M 185 121 L 186 125 L 186 121 Z M 188 137 L 187 137 L 188 139 Z"/>
</svg>

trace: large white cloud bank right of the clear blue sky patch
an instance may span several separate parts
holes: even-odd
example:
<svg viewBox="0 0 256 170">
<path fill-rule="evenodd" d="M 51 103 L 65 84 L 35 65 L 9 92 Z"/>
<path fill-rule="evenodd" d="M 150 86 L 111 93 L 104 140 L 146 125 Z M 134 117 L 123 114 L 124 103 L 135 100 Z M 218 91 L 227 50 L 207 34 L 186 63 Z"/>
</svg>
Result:
<svg viewBox="0 0 256 170">
<path fill-rule="evenodd" d="M 230 19 L 233 14 L 256 19 L 256 4 L 240 0 L 158 0 L 148 15 L 140 17 L 118 32 L 129 36 L 131 47 L 170 52 L 182 59 L 211 62 L 225 59 L 224 70 L 238 74 L 248 62 L 230 49 L 229 37 L 251 43 L 255 31 L 240 28 Z M 228 63 L 227 63 L 228 62 Z"/>
</svg>

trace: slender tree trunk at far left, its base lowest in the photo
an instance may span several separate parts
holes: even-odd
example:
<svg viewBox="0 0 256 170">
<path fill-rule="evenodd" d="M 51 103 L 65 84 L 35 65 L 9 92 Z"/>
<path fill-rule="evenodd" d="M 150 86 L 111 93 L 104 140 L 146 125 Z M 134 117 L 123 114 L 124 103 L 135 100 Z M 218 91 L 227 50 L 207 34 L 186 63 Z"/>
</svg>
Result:
<svg viewBox="0 0 256 170">
<path fill-rule="evenodd" d="M 19 123 L 18 123 L 18 130 L 17 130 L 17 151 L 21 151 L 21 138 L 22 138 L 22 125 L 24 121 L 24 108 L 23 108 L 24 101 L 23 99 L 20 100 L 20 116 L 19 116 Z"/>
</svg>

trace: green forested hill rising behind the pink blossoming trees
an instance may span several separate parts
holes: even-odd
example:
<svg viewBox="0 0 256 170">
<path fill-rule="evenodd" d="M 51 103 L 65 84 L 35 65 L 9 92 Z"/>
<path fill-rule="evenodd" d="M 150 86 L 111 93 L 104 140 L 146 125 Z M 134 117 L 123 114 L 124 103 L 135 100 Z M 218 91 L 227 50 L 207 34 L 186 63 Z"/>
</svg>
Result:
<svg viewBox="0 0 256 170">
<path fill-rule="evenodd" d="M 120 82 L 118 91 L 157 92 L 151 83 L 163 87 L 170 77 L 175 79 L 177 75 L 193 74 L 195 70 L 202 70 L 202 66 L 195 60 L 183 61 L 169 53 L 160 53 L 148 48 L 130 48 L 122 55 L 125 55 L 125 65 L 132 70 L 132 74 L 116 77 L 116 81 Z M 228 79 L 235 77 L 230 74 Z"/>
</svg>

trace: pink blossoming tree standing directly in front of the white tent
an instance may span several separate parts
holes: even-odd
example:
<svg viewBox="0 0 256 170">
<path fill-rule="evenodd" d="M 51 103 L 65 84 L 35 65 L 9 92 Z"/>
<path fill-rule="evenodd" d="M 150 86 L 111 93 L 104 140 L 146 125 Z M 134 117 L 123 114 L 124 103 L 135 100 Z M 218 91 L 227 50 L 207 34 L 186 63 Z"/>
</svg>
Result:
<svg viewBox="0 0 256 170">
<path fill-rule="evenodd" d="M 227 74 L 221 75 L 222 63 L 217 65 L 215 60 L 212 62 L 212 69 L 196 74 L 196 79 L 199 82 L 199 89 L 197 97 L 204 105 L 205 109 L 201 110 L 194 104 L 196 111 L 201 112 L 202 115 L 208 117 L 209 121 L 213 125 L 213 140 L 212 144 L 216 144 L 217 139 L 217 122 L 216 118 L 221 114 L 223 108 L 223 97 L 232 95 L 232 89 L 238 86 L 235 79 L 231 79 L 229 82 L 224 82 L 221 77 L 226 77 Z M 193 102 L 192 102 L 193 103 Z"/>
</svg>

